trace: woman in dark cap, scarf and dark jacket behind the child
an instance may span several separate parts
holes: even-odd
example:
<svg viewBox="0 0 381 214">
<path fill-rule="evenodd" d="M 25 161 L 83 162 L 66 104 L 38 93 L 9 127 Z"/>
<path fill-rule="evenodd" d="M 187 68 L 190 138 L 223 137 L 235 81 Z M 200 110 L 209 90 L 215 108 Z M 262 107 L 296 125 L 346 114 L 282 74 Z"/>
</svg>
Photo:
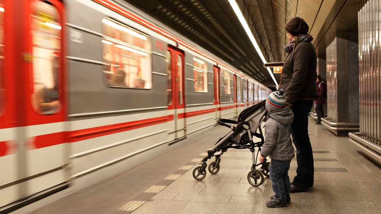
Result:
<svg viewBox="0 0 381 214">
<path fill-rule="evenodd" d="M 308 135 L 308 113 L 316 91 L 316 52 L 308 34 L 309 27 L 300 17 L 290 19 L 285 25 L 288 53 L 283 65 L 280 88 L 285 90 L 287 105 L 292 107 L 294 121 L 291 123 L 291 135 L 296 147 L 297 175 L 291 184 L 291 193 L 305 192 L 314 185 L 314 157 Z"/>
</svg>

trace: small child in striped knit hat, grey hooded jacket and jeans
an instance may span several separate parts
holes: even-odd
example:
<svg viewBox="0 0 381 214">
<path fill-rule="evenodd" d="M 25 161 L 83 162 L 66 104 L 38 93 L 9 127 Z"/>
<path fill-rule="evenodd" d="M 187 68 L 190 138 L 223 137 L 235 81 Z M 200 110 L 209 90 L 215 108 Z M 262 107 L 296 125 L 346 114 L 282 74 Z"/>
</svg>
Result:
<svg viewBox="0 0 381 214">
<path fill-rule="evenodd" d="M 290 169 L 291 159 L 295 157 L 291 141 L 290 124 L 294 114 L 290 107 L 286 107 L 284 90 L 279 89 L 271 93 L 266 99 L 267 121 L 265 125 L 265 141 L 261 149 L 259 160 L 270 156 L 270 179 L 275 195 L 267 201 L 268 207 L 284 207 L 290 203 Z"/>
</svg>

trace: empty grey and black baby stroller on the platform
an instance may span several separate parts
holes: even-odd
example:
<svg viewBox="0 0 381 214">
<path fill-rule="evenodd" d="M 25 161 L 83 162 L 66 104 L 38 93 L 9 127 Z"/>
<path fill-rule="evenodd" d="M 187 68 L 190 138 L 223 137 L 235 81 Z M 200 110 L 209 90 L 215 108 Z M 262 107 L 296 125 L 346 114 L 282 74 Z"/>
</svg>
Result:
<svg viewBox="0 0 381 214">
<path fill-rule="evenodd" d="M 232 129 L 227 135 L 219 139 L 213 148 L 208 150 L 208 156 L 203 158 L 193 170 L 193 177 L 196 180 L 202 180 L 207 176 L 206 168 L 208 159 L 215 157 L 215 161 L 209 164 L 208 171 L 211 174 L 217 174 L 220 166 L 221 155 L 227 151 L 227 149 L 250 149 L 253 157 L 253 165 L 251 171 L 247 175 L 248 182 L 254 187 L 258 187 L 263 183 L 264 176 L 269 177 L 270 163 L 264 160 L 264 163 L 257 164 L 258 153 L 261 151 L 261 147 L 264 144 L 263 132 L 261 129 L 261 123 L 266 120 L 266 100 L 259 102 L 252 107 L 243 110 L 238 117 L 238 120 L 219 119 L 217 123 L 221 126 L 226 126 Z M 237 126 L 228 125 L 237 124 Z M 259 129 L 259 133 L 257 132 Z M 253 142 L 253 136 L 261 139 L 260 142 Z M 258 147 L 258 151 L 255 155 L 255 148 Z M 256 167 L 261 166 L 258 170 Z"/>
</svg>

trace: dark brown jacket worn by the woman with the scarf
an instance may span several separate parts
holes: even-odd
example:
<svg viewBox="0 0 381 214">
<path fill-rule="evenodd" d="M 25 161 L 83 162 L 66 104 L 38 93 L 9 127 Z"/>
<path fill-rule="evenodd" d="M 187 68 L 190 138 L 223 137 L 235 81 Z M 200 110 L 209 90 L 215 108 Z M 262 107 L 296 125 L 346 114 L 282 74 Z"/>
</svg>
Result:
<svg viewBox="0 0 381 214">
<path fill-rule="evenodd" d="M 287 103 L 316 100 L 316 52 L 311 42 L 301 42 L 287 56 L 282 69 L 280 88 L 285 90 Z"/>
</svg>

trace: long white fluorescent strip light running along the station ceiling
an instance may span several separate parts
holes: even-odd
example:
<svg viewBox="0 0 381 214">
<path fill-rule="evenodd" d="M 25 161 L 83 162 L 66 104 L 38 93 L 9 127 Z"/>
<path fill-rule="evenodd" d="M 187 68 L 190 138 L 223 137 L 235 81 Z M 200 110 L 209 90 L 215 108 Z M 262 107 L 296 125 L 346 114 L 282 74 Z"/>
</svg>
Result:
<svg viewBox="0 0 381 214">
<path fill-rule="evenodd" d="M 247 34 L 248 37 L 250 38 L 251 43 L 253 43 L 255 50 L 256 50 L 257 53 L 259 54 L 259 57 L 261 57 L 261 59 L 262 59 L 262 61 L 263 61 L 264 64 L 267 63 L 267 62 L 266 62 L 266 59 L 265 59 L 264 56 L 263 56 L 263 53 L 262 53 L 262 51 L 261 51 L 261 48 L 259 48 L 257 41 L 255 40 L 253 34 L 251 33 L 250 27 L 249 27 L 249 25 L 247 24 L 246 19 L 243 17 L 243 14 L 242 14 L 242 12 L 241 12 L 241 10 L 240 10 L 240 8 L 239 8 L 237 2 L 235 2 L 235 0 L 229 0 L 229 3 L 230 3 L 230 5 L 232 6 L 235 15 L 237 15 L 237 18 L 238 18 L 239 21 L 241 22 L 243 29 L 245 29 L 246 34 Z M 278 86 L 277 80 L 275 80 L 275 77 L 274 77 L 274 75 L 272 74 L 271 70 L 270 70 L 269 68 L 267 68 L 267 71 L 270 73 L 270 76 L 271 76 L 272 80 L 274 81 L 275 86 Z"/>
</svg>

